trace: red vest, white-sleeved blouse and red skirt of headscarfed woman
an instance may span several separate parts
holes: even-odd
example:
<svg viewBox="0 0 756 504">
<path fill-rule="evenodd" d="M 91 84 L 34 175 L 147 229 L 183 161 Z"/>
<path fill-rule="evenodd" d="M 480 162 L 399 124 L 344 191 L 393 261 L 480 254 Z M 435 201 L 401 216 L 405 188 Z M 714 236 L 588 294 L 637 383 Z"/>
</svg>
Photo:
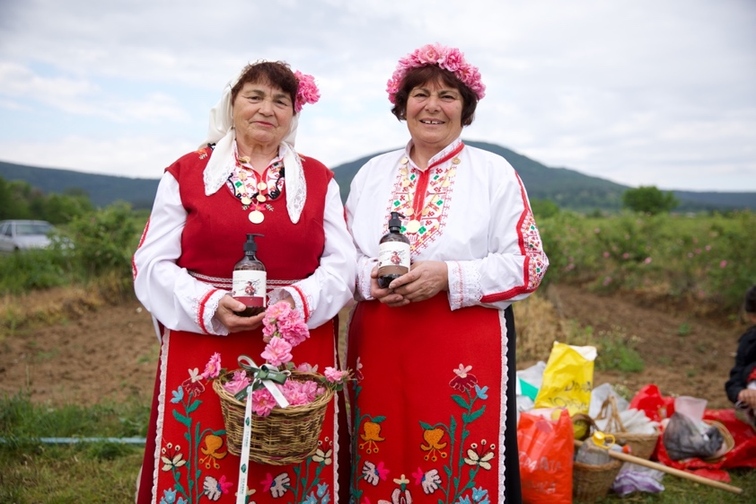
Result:
<svg viewBox="0 0 756 504">
<path fill-rule="evenodd" d="M 246 233 L 260 233 L 257 257 L 268 287 L 289 286 L 301 304 L 311 335 L 294 352 L 295 362 L 336 366 L 333 317 L 351 297 L 351 239 L 333 174 L 301 157 L 306 203 L 294 224 L 287 188 L 269 199 L 264 221 L 252 224 L 225 184 L 206 195 L 203 170 L 211 153 L 188 154 L 166 171 L 150 221 L 134 256 L 135 289 L 165 329 L 161 334 L 153 418 L 139 502 L 235 502 L 239 457 L 228 452 L 218 397 L 200 375 L 210 356 L 236 369 L 241 354 L 259 358 L 261 330 L 226 334 L 212 320 L 217 300 L 230 289 Z M 270 167 L 269 167 L 270 169 Z M 353 250 L 353 249 L 351 249 Z M 217 325 L 216 325 L 217 324 Z M 298 465 L 250 463 L 248 502 L 334 502 L 337 490 L 336 402 L 329 405 L 318 450 Z"/>
</svg>

